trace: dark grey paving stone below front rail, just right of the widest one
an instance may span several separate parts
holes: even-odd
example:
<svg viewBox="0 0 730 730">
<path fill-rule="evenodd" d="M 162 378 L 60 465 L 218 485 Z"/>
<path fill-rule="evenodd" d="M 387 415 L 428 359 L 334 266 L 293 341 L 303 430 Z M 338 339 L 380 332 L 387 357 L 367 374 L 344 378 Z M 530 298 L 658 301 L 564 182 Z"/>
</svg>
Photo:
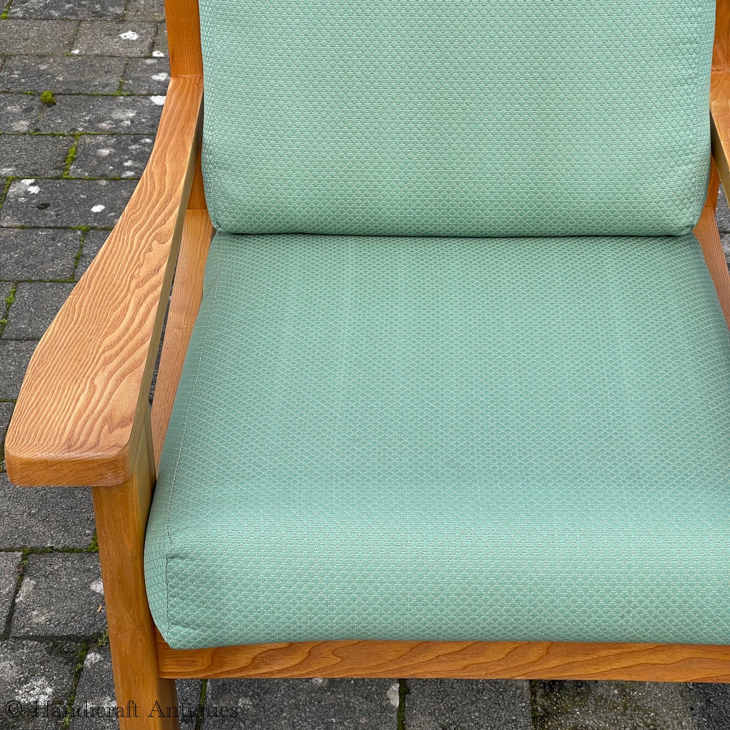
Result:
<svg viewBox="0 0 730 730">
<path fill-rule="evenodd" d="M 408 689 L 408 730 L 532 730 L 527 682 L 409 680 Z"/>
</svg>

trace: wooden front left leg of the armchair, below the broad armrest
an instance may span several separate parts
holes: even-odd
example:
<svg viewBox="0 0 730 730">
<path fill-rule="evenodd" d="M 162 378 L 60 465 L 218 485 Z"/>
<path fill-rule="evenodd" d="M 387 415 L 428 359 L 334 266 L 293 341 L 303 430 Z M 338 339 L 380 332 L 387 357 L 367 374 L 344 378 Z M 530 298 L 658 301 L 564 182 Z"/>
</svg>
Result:
<svg viewBox="0 0 730 730">
<path fill-rule="evenodd" d="M 132 451 L 132 476 L 118 486 L 92 488 L 96 535 L 120 728 L 177 730 L 175 683 L 158 673 L 154 624 L 145 591 L 145 529 L 155 485 L 155 460 L 148 408 L 143 418 Z"/>
</svg>

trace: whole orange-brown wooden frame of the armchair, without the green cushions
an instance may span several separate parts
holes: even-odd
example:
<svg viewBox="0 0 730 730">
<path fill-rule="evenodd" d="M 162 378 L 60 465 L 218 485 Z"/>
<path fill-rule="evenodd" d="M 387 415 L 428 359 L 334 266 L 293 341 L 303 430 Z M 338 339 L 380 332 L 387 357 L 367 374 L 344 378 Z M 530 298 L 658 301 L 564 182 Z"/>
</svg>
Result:
<svg viewBox="0 0 730 730">
<path fill-rule="evenodd" d="M 197 0 L 166 0 L 172 80 L 150 162 L 118 226 L 39 343 L 6 442 L 19 485 L 93 488 L 123 729 L 177 728 L 173 677 L 461 677 L 730 682 L 730 647 L 336 641 L 174 650 L 147 606 L 143 547 L 155 469 L 212 237 L 202 190 Z M 730 325 L 715 205 L 730 190 L 730 0 L 717 0 L 710 189 L 695 228 Z M 716 166 L 715 166 L 716 163 Z M 155 355 L 177 264 L 153 407 Z"/>
</svg>

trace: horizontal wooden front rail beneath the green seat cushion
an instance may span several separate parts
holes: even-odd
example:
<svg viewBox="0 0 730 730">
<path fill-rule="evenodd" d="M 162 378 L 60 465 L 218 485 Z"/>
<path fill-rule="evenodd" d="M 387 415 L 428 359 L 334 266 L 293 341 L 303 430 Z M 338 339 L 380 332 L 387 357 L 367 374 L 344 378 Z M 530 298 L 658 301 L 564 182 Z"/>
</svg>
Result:
<svg viewBox="0 0 730 730">
<path fill-rule="evenodd" d="M 457 677 L 730 682 L 730 647 L 560 642 L 332 641 L 174 650 L 163 677 Z"/>
</svg>

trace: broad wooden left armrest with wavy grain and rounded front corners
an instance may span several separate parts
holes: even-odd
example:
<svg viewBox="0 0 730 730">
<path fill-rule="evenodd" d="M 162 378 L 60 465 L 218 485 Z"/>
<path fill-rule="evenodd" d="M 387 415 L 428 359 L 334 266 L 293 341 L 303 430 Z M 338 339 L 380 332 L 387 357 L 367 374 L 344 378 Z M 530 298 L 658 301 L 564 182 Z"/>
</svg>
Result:
<svg viewBox="0 0 730 730">
<path fill-rule="evenodd" d="M 173 77 L 150 161 L 34 352 L 5 443 L 23 486 L 130 477 L 200 137 L 202 78 Z"/>
</svg>

